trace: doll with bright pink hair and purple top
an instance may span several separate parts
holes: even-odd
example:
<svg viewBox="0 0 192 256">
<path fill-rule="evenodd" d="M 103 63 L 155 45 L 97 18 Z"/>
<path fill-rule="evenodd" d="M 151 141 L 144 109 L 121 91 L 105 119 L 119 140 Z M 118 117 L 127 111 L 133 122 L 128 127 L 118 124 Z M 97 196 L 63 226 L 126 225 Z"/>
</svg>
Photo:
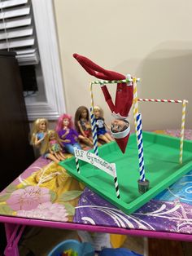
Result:
<svg viewBox="0 0 192 256">
<path fill-rule="evenodd" d="M 63 148 L 65 148 L 67 152 L 74 155 L 74 148 L 81 149 L 81 146 L 77 142 L 77 139 L 80 135 L 72 127 L 73 125 L 71 116 L 68 114 L 63 114 L 61 117 L 59 117 L 56 131 L 59 134 Z"/>
</svg>

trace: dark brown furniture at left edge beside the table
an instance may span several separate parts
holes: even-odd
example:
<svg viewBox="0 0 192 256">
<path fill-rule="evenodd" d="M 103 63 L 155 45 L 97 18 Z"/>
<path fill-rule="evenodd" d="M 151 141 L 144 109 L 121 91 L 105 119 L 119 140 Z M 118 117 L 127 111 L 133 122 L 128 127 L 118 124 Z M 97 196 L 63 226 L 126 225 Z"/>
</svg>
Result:
<svg viewBox="0 0 192 256">
<path fill-rule="evenodd" d="M 0 190 L 33 161 L 20 69 L 13 52 L 0 51 Z"/>
</svg>

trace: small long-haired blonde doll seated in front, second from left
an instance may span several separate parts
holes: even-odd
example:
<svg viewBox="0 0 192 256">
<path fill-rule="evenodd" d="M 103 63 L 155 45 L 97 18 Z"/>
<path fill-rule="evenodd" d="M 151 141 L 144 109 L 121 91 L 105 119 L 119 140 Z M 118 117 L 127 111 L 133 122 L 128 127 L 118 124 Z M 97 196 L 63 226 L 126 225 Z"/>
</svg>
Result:
<svg viewBox="0 0 192 256">
<path fill-rule="evenodd" d="M 55 130 L 49 130 L 41 146 L 41 155 L 58 164 L 59 161 L 66 159 L 63 155 L 61 145 L 62 143 L 57 132 Z"/>
</svg>

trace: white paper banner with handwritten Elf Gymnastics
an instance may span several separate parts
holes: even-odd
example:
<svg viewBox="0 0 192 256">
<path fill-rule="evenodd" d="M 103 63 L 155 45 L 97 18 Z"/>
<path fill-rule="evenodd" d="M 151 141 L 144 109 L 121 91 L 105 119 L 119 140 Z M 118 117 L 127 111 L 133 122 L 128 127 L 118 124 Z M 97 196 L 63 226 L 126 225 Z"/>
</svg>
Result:
<svg viewBox="0 0 192 256">
<path fill-rule="evenodd" d="M 74 151 L 76 158 L 82 161 L 86 161 L 89 164 L 96 166 L 101 170 L 104 170 L 105 172 L 107 172 L 107 174 L 110 174 L 112 177 L 114 177 L 114 175 L 116 176 L 115 164 L 110 164 L 107 161 L 103 160 L 101 157 L 98 157 L 93 153 L 87 152 L 85 150 L 74 148 Z"/>
</svg>

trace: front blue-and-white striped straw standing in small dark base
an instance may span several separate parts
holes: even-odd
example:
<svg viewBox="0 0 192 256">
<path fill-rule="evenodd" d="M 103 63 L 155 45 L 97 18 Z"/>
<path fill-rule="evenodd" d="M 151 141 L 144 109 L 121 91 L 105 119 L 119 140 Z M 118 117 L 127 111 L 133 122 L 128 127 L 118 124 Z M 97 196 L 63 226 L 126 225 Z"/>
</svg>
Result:
<svg viewBox="0 0 192 256">
<path fill-rule="evenodd" d="M 140 180 L 145 181 L 145 168 L 143 157 L 143 143 L 142 143 L 142 114 L 137 114 L 137 147 L 138 147 L 138 161 Z"/>
</svg>

